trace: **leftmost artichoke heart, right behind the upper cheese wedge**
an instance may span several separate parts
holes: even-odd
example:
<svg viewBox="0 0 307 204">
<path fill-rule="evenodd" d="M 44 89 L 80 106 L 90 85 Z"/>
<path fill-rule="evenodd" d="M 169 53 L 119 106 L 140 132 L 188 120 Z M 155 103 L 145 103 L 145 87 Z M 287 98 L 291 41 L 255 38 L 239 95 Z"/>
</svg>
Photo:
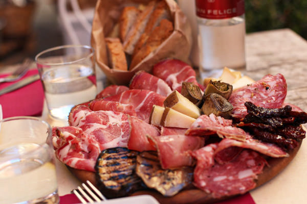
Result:
<svg viewBox="0 0 307 204">
<path fill-rule="evenodd" d="M 196 106 L 202 102 L 203 94 L 200 87 L 191 82 L 182 83 L 181 94 Z"/>
</svg>

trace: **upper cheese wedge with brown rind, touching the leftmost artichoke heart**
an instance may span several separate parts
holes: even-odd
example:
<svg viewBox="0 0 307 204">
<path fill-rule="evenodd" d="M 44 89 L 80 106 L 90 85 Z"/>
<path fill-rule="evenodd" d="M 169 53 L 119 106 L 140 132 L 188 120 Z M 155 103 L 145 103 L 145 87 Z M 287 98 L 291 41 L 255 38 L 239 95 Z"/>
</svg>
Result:
<svg viewBox="0 0 307 204">
<path fill-rule="evenodd" d="M 167 96 L 164 100 L 164 107 L 172 108 L 192 118 L 198 118 L 201 115 L 201 109 L 181 95 L 177 90 L 174 90 Z"/>
</svg>

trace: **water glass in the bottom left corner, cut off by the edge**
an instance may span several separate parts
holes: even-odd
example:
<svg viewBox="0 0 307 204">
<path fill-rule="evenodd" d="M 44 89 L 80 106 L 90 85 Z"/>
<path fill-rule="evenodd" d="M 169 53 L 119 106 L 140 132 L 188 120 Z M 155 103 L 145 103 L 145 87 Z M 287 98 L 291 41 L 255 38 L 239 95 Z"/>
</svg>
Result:
<svg viewBox="0 0 307 204">
<path fill-rule="evenodd" d="M 36 117 L 0 120 L 0 203 L 59 203 L 50 125 Z"/>
</svg>

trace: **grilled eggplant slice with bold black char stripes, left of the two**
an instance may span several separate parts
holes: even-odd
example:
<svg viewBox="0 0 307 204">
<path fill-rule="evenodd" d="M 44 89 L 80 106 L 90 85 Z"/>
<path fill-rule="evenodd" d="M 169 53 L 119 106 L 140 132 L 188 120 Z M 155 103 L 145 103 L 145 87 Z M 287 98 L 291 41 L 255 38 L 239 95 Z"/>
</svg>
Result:
<svg viewBox="0 0 307 204">
<path fill-rule="evenodd" d="M 122 147 L 101 151 L 95 165 L 96 180 L 106 197 L 123 197 L 145 188 L 135 173 L 138 154 L 138 151 Z"/>
</svg>

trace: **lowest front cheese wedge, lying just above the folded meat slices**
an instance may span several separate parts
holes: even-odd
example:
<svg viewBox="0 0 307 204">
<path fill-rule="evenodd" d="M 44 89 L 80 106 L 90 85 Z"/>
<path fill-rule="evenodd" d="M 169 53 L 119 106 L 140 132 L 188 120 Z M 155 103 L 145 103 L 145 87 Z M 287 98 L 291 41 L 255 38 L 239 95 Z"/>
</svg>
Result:
<svg viewBox="0 0 307 204">
<path fill-rule="evenodd" d="M 166 107 L 161 118 L 161 125 L 164 127 L 189 128 L 195 120 L 195 118 Z"/>
</svg>

